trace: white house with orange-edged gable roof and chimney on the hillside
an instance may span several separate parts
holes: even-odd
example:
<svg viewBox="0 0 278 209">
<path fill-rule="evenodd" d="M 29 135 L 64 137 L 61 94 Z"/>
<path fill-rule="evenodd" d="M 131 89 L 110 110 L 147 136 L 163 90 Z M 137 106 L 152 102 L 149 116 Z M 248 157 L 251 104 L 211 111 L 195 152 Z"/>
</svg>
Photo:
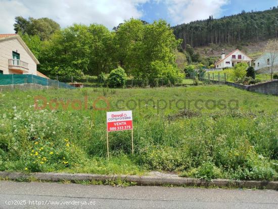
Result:
<svg viewBox="0 0 278 209">
<path fill-rule="evenodd" d="M 234 67 L 236 64 L 241 62 L 246 62 L 251 66 L 252 59 L 244 54 L 239 49 L 234 50 L 233 52 L 229 53 L 225 56 L 224 53 L 221 55 L 221 60 L 215 63 L 215 68 L 225 68 L 225 67 Z"/>
</svg>

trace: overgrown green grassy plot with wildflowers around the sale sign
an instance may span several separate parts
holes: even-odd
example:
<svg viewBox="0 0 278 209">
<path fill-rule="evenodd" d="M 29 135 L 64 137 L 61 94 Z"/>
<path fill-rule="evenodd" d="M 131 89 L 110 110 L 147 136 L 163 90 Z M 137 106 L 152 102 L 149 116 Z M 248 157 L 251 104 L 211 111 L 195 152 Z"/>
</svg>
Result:
<svg viewBox="0 0 278 209">
<path fill-rule="evenodd" d="M 69 101 L 68 108 L 50 110 L 47 104 L 35 111 L 37 95 L 48 103 Z M 106 111 L 93 107 L 99 97 L 109 101 L 111 111 L 133 110 L 134 156 L 130 132 L 114 132 L 109 135 L 111 158 L 106 159 Z M 81 110 L 73 110 L 77 99 Z M 230 100 L 233 109 L 238 101 L 239 109 L 229 109 Z M 195 106 L 195 101 L 203 103 Z M 278 97 L 226 86 L 2 92 L 0 169 L 98 174 L 162 170 L 206 180 L 273 180 L 278 171 L 277 102 Z"/>
</svg>

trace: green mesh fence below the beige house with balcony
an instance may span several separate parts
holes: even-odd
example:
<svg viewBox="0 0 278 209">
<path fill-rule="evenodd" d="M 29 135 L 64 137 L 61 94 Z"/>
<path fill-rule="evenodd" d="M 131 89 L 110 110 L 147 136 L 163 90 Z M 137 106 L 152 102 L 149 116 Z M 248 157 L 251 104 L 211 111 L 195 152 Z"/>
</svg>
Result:
<svg viewBox="0 0 278 209">
<path fill-rule="evenodd" d="M 57 80 L 52 80 L 44 77 L 39 77 L 30 74 L 12 74 L 3 75 L 0 74 L 0 86 L 1 85 L 16 85 L 21 83 L 36 83 L 42 86 L 63 88 L 63 89 L 75 89 L 75 87 L 70 86 L 68 83 L 60 82 Z"/>
</svg>

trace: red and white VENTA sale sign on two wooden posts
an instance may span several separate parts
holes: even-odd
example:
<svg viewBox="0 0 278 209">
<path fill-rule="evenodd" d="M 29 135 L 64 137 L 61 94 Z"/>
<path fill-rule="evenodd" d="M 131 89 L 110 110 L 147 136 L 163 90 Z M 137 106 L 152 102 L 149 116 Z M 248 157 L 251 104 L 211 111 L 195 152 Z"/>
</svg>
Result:
<svg viewBox="0 0 278 209">
<path fill-rule="evenodd" d="M 132 111 L 107 112 L 107 157 L 109 157 L 108 132 L 131 130 L 131 150 L 133 150 Z"/>
</svg>

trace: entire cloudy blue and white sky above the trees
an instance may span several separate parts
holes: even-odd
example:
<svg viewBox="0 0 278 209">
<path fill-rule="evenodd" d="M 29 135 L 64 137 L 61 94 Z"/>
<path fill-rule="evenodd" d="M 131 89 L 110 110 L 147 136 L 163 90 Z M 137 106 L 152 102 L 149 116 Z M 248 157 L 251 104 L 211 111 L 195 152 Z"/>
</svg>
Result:
<svg viewBox="0 0 278 209">
<path fill-rule="evenodd" d="M 62 27 L 99 23 L 112 29 L 131 17 L 176 25 L 277 5 L 278 0 L 0 0 L 0 33 L 14 33 L 15 16 L 48 17 Z"/>
</svg>

